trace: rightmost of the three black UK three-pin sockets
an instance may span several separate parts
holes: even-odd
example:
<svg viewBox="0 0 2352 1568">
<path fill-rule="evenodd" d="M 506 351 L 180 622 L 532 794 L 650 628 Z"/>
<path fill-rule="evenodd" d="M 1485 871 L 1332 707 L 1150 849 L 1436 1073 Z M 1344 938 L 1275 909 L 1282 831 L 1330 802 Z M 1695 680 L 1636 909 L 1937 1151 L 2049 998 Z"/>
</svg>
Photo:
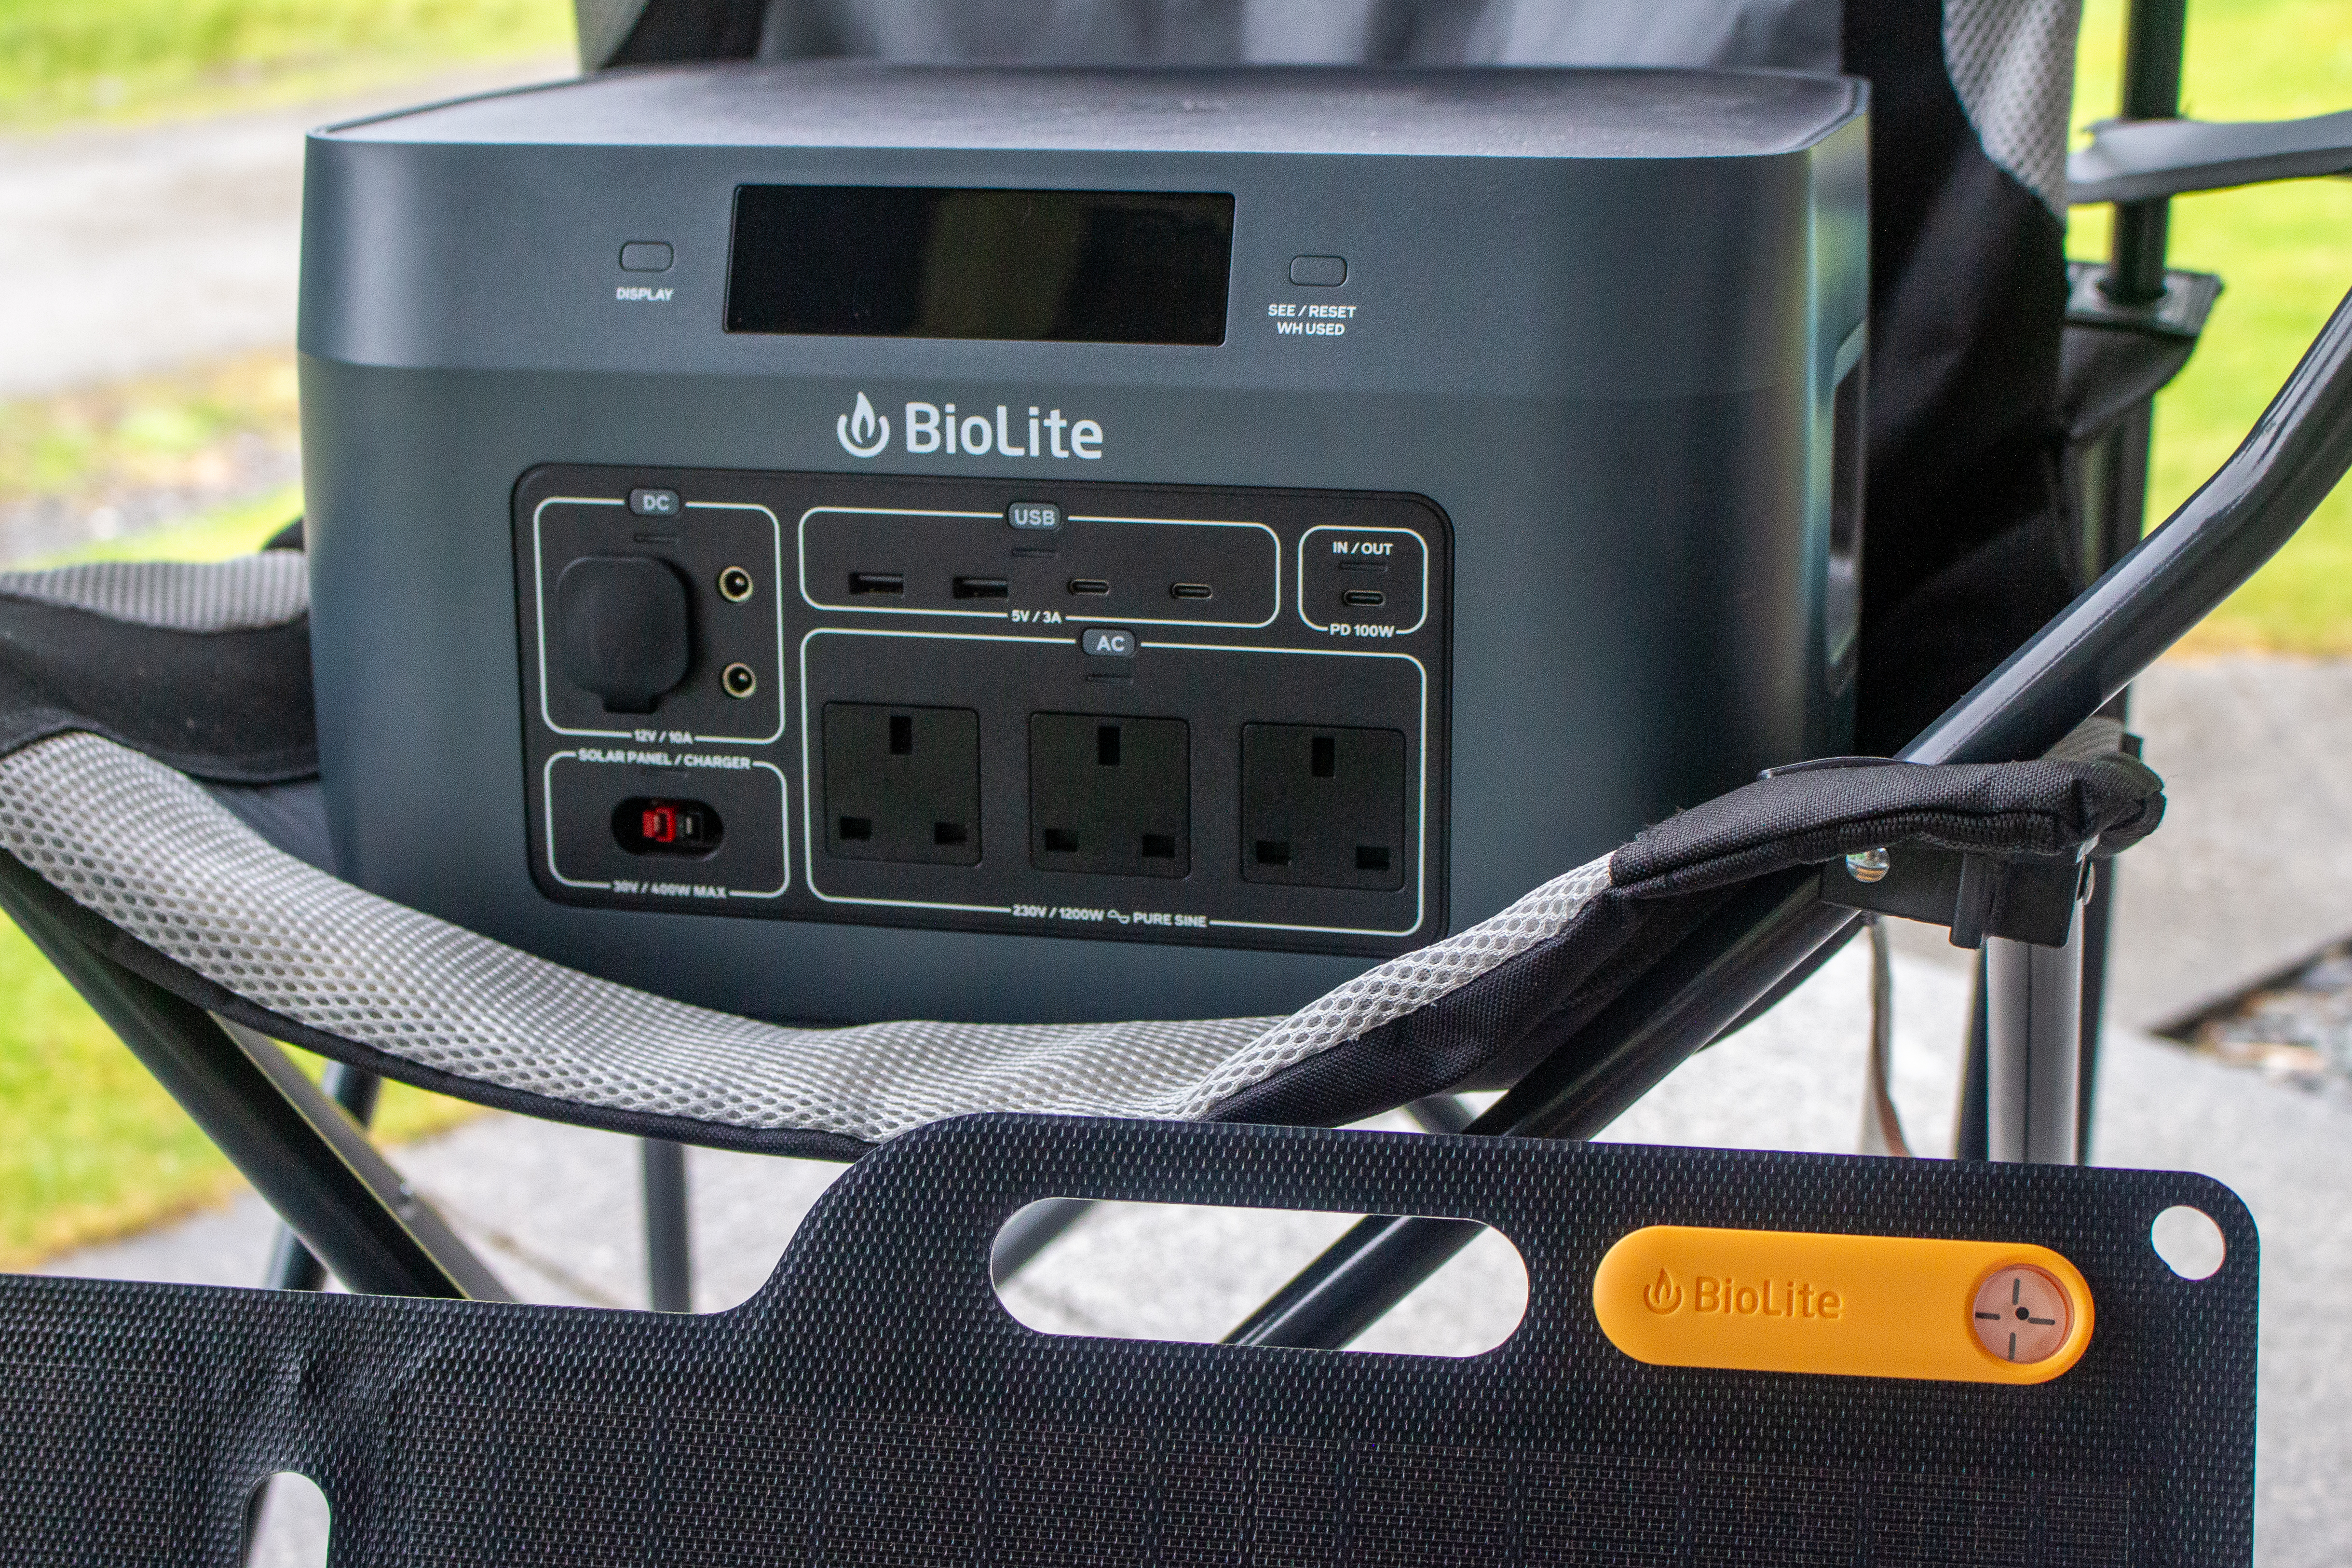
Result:
<svg viewBox="0 0 2352 1568">
<path fill-rule="evenodd" d="M 1404 886 L 1404 733 L 1242 726 L 1242 879 Z"/>
</svg>

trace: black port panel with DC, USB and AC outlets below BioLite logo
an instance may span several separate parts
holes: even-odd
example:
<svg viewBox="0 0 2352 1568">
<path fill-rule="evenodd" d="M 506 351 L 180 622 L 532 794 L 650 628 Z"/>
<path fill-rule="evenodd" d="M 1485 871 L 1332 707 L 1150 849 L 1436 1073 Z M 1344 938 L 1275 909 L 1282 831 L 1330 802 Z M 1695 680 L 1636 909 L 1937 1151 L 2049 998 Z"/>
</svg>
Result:
<svg viewBox="0 0 2352 1568">
<path fill-rule="evenodd" d="M 677 501 L 637 515 L 633 491 Z M 689 595 L 649 712 L 562 658 L 628 646 L 557 604 L 567 567 L 612 557 Z M 1404 494 L 534 468 L 534 882 L 713 917 L 1418 947 L 1446 929 L 1449 564 L 1444 512 Z"/>
</svg>

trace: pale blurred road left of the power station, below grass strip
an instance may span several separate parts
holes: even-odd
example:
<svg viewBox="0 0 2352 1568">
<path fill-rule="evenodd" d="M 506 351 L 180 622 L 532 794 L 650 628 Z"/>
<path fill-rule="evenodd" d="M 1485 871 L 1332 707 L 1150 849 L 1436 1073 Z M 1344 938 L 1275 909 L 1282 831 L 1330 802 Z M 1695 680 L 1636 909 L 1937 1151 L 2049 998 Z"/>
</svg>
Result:
<svg viewBox="0 0 2352 1568">
<path fill-rule="evenodd" d="M 0 139 L 0 397 L 292 343 L 303 132 L 567 71 L 532 59 L 306 108 Z"/>
</svg>

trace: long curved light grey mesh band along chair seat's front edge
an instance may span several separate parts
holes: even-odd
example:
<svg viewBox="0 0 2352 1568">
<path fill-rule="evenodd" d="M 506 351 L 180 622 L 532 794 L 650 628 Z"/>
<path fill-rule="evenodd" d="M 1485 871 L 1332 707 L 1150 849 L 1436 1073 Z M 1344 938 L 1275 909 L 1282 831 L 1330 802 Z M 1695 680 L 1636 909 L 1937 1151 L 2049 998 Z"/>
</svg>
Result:
<svg viewBox="0 0 2352 1568">
<path fill-rule="evenodd" d="M 576 1105 L 877 1143 L 974 1110 L 1204 1117 L 1555 936 L 1595 860 L 1291 1018 L 790 1030 L 597 980 L 336 882 L 193 780 L 68 733 L 0 759 L 0 846 L 207 980 L 313 1030 Z"/>
</svg>

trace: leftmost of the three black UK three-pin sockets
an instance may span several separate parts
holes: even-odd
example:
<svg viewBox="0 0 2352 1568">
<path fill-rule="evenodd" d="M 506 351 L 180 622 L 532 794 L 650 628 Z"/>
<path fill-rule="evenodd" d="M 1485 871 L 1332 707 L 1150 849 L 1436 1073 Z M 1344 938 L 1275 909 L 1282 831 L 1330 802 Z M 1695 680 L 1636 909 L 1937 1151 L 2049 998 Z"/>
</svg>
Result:
<svg viewBox="0 0 2352 1568">
<path fill-rule="evenodd" d="M 981 863 L 981 715 L 826 703 L 826 853 Z"/>
</svg>

